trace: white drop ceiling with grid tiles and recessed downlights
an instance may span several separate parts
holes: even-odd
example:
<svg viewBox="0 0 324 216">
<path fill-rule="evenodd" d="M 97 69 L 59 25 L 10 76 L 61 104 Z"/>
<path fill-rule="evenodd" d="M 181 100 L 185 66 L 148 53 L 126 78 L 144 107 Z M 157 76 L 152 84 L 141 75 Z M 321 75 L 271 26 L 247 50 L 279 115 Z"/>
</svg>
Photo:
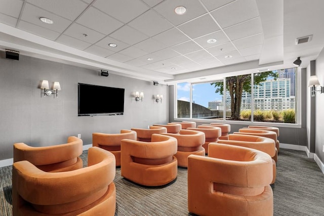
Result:
<svg viewBox="0 0 324 216">
<path fill-rule="evenodd" d="M 0 50 L 161 83 L 209 80 L 297 57 L 306 67 L 324 46 L 323 9 L 321 0 L 1 0 Z"/>
</svg>

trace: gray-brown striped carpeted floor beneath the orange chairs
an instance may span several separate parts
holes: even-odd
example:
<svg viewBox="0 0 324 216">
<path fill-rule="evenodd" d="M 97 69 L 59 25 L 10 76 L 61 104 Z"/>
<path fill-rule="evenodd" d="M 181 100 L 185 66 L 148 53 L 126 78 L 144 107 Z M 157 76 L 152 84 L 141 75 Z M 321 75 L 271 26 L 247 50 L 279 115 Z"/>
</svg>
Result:
<svg viewBox="0 0 324 216">
<path fill-rule="evenodd" d="M 87 151 L 82 158 L 87 164 Z M 12 166 L 0 167 L 1 215 L 12 215 Z M 115 215 L 193 215 L 187 210 L 187 169 L 164 187 L 141 187 L 120 176 L 116 169 Z M 280 149 L 273 185 L 274 215 L 324 215 L 324 175 L 305 152 Z"/>
</svg>

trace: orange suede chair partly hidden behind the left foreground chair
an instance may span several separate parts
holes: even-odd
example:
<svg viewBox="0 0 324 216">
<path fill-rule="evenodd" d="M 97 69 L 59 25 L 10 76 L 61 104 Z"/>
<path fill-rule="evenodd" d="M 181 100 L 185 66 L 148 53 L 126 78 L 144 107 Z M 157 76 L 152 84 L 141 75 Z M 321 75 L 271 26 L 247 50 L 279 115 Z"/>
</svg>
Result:
<svg viewBox="0 0 324 216">
<path fill-rule="evenodd" d="M 79 157 L 83 152 L 83 142 L 77 137 L 68 137 L 66 144 L 31 147 L 24 143 L 14 144 L 14 162 L 28 160 L 46 172 L 62 172 L 83 167 Z"/>
</svg>

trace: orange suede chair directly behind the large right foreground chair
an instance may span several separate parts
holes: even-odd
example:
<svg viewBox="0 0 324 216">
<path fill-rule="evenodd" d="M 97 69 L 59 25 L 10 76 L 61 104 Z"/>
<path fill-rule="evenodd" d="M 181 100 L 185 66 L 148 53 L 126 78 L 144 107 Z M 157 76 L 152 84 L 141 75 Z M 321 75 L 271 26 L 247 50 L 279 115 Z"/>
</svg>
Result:
<svg viewBox="0 0 324 216">
<path fill-rule="evenodd" d="M 219 140 L 217 141 L 217 143 L 252 148 L 259 151 L 263 151 L 267 153 L 270 157 L 275 156 L 275 143 L 272 139 L 266 137 L 230 134 L 228 136 L 228 140 Z M 271 184 L 275 182 L 276 178 L 276 163 L 274 159 L 272 159 L 272 168 L 273 179 Z"/>
</svg>

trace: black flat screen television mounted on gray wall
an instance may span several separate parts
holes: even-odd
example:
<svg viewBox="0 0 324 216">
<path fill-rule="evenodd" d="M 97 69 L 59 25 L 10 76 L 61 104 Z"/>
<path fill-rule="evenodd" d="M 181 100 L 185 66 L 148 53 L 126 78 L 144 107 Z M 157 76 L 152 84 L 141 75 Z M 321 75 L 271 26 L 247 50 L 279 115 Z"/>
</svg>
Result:
<svg viewBox="0 0 324 216">
<path fill-rule="evenodd" d="M 123 115 L 125 89 L 78 83 L 78 116 Z"/>
</svg>

